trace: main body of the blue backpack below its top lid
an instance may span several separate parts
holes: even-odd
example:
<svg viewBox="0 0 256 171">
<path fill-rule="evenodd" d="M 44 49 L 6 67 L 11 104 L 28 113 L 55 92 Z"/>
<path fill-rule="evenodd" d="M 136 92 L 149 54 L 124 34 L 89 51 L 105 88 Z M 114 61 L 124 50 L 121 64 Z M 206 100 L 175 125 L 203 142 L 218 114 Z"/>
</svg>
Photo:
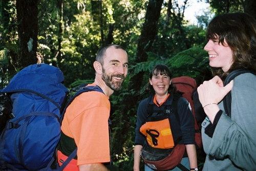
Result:
<svg viewBox="0 0 256 171">
<path fill-rule="evenodd" d="M 60 139 L 59 109 L 30 92 L 13 93 L 11 99 L 15 117 L 7 123 L 1 139 L 5 141 L 4 162 L 25 170 L 48 166 Z"/>
</svg>

